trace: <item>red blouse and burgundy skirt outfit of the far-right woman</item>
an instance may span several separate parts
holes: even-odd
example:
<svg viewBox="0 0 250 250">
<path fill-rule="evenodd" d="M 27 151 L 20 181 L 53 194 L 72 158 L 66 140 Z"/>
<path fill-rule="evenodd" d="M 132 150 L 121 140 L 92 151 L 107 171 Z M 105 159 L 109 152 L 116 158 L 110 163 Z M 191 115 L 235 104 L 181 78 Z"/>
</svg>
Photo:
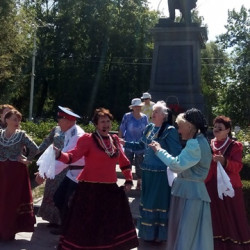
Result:
<svg viewBox="0 0 250 250">
<path fill-rule="evenodd" d="M 243 199 L 240 171 L 242 169 L 242 144 L 229 137 L 225 141 L 211 141 L 213 154 L 224 155 L 224 170 L 234 188 L 234 197 L 219 198 L 217 191 L 217 163 L 212 161 L 206 186 L 211 198 L 211 213 L 215 250 L 249 250 L 250 229 Z"/>
</svg>

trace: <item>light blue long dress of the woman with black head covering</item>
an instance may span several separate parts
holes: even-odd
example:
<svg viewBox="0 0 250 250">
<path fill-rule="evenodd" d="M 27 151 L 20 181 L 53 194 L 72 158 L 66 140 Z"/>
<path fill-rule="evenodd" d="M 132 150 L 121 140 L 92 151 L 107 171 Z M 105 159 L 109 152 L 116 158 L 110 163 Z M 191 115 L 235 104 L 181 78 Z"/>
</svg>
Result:
<svg viewBox="0 0 250 250">
<path fill-rule="evenodd" d="M 178 173 L 171 191 L 168 249 L 213 250 L 210 198 L 204 183 L 212 154 L 206 138 L 199 134 L 188 140 L 176 157 L 164 149 L 156 155 Z"/>
</svg>

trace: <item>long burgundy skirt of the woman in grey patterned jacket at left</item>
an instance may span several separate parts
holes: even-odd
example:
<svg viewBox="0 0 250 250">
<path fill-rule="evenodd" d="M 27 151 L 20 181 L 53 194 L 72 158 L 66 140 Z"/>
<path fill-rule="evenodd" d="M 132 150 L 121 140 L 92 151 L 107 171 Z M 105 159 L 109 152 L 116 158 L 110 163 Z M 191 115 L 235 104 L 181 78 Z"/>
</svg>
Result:
<svg viewBox="0 0 250 250">
<path fill-rule="evenodd" d="M 34 232 L 35 223 L 26 165 L 0 162 L 0 240 L 14 239 L 18 232 Z"/>
</svg>

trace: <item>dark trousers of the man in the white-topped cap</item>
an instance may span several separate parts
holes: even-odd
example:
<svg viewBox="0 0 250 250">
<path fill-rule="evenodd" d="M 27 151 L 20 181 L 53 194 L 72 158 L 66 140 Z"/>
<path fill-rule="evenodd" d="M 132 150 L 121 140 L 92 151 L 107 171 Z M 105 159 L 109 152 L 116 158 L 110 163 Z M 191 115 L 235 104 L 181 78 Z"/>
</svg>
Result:
<svg viewBox="0 0 250 250">
<path fill-rule="evenodd" d="M 62 224 L 64 223 L 69 211 L 70 203 L 77 185 L 78 183 L 65 176 L 54 194 L 54 203 L 60 211 Z"/>
</svg>

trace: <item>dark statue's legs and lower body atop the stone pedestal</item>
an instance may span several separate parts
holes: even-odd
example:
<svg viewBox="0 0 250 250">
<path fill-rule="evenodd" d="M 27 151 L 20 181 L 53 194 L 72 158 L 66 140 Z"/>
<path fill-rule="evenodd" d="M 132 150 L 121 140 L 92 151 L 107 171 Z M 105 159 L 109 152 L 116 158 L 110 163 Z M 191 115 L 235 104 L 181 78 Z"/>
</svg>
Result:
<svg viewBox="0 0 250 250">
<path fill-rule="evenodd" d="M 191 10 L 196 7 L 197 0 L 168 0 L 168 9 L 170 20 L 175 20 L 175 10 L 178 9 L 181 12 L 181 22 L 186 24 L 192 23 Z"/>
</svg>

